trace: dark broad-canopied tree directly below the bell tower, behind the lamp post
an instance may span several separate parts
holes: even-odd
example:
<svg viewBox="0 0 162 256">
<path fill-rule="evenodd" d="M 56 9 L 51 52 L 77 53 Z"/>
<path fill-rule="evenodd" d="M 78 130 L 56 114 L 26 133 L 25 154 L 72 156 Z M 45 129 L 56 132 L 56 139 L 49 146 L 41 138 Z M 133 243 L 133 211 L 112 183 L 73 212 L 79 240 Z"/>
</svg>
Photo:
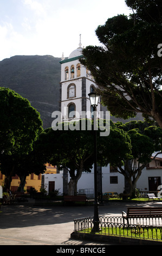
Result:
<svg viewBox="0 0 162 256">
<path fill-rule="evenodd" d="M 62 130 L 46 129 L 41 133 L 37 149 L 44 152 L 47 161 L 51 164 L 57 165 L 59 168 L 66 168 L 70 174 L 70 181 L 68 184 L 68 194 L 74 195 L 77 193 L 77 181 L 81 178 L 82 172 L 90 172 L 94 163 L 94 129 L 93 122 L 86 120 L 86 125 L 90 123 L 92 130 L 81 130 L 82 120 L 75 122 L 75 127 L 79 130 L 70 130 L 69 123 L 63 123 Z M 91 123 L 92 122 L 92 123 Z M 113 123 L 112 123 L 113 124 Z M 100 137 L 100 126 L 98 125 L 97 133 L 97 149 L 106 150 L 106 139 L 111 137 Z M 101 130 L 102 131 L 102 130 Z M 114 127 L 111 131 L 114 134 L 114 142 L 118 141 L 118 148 L 116 147 L 116 154 L 124 158 L 130 153 L 131 144 L 126 132 Z M 114 145 L 113 144 L 113 145 Z M 112 144 L 111 144 L 112 145 Z M 122 151 L 120 147 L 122 145 Z M 106 151 L 107 152 L 107 151 Z M 100 155 L 100 154 L 98 154 Z M 101 157 L 101 155 L 100 155 Z M 101 159 L 98 157 L 98 162 Z M 107 155 L 102 158 L 102 163 L 107 164 Z"/>
</svg>

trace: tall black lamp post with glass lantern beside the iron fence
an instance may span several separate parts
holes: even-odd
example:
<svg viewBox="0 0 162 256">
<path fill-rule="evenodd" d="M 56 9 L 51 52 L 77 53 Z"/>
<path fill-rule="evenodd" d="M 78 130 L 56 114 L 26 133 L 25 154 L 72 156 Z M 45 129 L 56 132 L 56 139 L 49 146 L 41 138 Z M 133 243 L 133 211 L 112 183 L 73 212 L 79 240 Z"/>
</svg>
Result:
<svg viewBox="0 0 162 256">
<path fill-rule="evenodd" d="M 93 127 L 94 127 L 94 217 L 93 217 L 93 232 L 99 231 L 99 212 L 98 212 L 98 190 L 97 190 L 97 145 L 96 145 L 96 107 L 99 103 L 99 95 L 95 92 L 89 93 L 90 105 L 93 107 Z"/>
</svg>

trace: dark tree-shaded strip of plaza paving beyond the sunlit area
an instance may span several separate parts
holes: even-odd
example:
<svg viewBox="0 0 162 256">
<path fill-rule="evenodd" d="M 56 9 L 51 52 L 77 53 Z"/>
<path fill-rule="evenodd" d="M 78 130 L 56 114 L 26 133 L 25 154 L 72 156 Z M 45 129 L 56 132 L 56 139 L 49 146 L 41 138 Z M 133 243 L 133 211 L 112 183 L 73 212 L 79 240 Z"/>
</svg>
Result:
<svg viewBox="0 0 162 256">
<path fill-rule="evenodd" d="M 109 203 L 99 206 L 100 216 L 121 216 L 129 206 L 159 206 L 160 203 Z M 1 229 L 73 222 L 75 218 L 93 216 L 93 206 L 34 206 L 22 203 L 1 208 Z"/>
</svg>

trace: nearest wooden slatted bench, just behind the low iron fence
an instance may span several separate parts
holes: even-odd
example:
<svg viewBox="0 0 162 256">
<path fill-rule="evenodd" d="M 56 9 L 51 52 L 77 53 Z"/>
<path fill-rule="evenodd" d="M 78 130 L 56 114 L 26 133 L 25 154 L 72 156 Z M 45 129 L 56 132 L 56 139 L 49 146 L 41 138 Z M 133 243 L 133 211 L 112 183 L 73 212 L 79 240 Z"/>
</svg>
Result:
<svg viewBox="0 0 162 256">
<path fill-rule="evenodd" d="M 129 224 L 129 219 L 137 218 L 159 218 L 162 217 L 162 207 L 137 207 L 137 208 L 127 208 L 127 213 L 122 211 L 122 218 L 125 224 Z"/>
</svg>

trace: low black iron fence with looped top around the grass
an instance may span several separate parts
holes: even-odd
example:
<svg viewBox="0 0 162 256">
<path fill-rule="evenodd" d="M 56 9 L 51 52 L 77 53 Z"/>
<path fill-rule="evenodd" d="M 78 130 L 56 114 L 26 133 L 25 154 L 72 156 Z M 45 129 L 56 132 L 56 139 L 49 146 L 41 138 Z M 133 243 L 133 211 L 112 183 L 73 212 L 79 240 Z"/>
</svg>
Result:
<svg viewBox="0 0 162 256">
<path fill-rule="evenodd" d="M 162 226 L 135 223 L 124 224 L 121 216 L 100 217 L 98 234 L 162 242 Z M 155 224 L 155 223 L 154 223 Z M 74 220 L 74 231 L 92 233 L 93 217 Z"/>
</svg>

